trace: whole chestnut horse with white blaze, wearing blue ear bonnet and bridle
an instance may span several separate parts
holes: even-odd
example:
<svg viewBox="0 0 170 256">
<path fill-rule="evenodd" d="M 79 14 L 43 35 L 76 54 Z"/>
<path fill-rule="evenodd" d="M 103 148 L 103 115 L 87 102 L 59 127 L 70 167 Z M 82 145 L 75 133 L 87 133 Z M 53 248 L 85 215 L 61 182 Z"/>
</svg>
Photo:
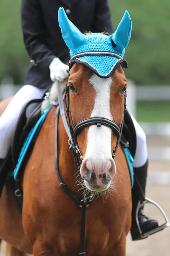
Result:
<svg viewBox="0 0 170 256">
<path fill-rule="evenodd" d="M 122 67 L 127 67 L 123 54 L 131 35 L 130 16 L 125 12 L 113 35 L 83 35 L 61 7 L 59 26 L 71 49 L 65 94 L 70 131 L 65 130 L 67 123 L 63 125 L 61 104 L 59 116 L 53 106 L 26 164 L 22 217 L 10 187 L 4 186 L 0 238 L 34 256 L 125 256 L 131 227 L 131 184 L 118 131 L 125 111 L 127 80 Z M 64 192 L 66 187 L 74 200 Z M 79 205 L 75 196 L 82 198 Z M 95 199 L 92 204 L 85 204 L 87 197 Z"/>
</svg>

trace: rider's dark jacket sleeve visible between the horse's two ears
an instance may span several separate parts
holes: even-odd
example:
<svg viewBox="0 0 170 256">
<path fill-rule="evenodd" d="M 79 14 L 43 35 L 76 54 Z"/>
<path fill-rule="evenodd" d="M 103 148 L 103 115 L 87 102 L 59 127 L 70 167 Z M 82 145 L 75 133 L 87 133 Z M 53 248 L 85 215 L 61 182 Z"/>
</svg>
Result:
<svg viewBox="0 0 170 256">
<path fill-rule="evenodd" d="M 96 0 L 94 20 L 92 23 L 92 32 L 108 32 L 113 33 L 111 21 L 111 10 L 108 0 Z"/>
</svg>

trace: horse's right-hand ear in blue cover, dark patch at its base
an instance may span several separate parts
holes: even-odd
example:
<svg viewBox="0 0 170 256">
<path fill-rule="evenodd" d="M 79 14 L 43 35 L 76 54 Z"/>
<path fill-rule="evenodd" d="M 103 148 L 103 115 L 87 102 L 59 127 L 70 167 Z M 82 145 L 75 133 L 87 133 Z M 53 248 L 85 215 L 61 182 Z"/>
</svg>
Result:
<svg viewBox="0 0 170 256">
<path fill-rule="evenodd" d="M 108 43 L 111 44 L 118 52 L 122 53 L 130 41 L 131 31 L 132 22 L 130 15 L 125 11 L 116 31 L 108 37 Z"/>
</svg>

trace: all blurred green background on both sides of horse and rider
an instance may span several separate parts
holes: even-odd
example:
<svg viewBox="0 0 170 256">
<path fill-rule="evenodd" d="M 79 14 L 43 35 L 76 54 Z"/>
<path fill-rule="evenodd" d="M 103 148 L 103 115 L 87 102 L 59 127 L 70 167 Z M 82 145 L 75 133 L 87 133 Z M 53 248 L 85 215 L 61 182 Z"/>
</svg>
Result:
<svg viewBox="0 0 170 256">
<path fill-rule="evenodd" d="M 14 84 L 23 83 L 29 65 L 20 27 L 20 3 L 0 1 L 0 81 L 11 76 Z M 125 52 L 127 79 L 137 85 L 169 85 L 170 1 L 110 0 L 110 6 L 114 29 L 125 10 L 132 19 L 132 37 Z M 137 102 L 137 119 L 154 122 L 158 119 L 157 109 L 162 113 L 160 121 L 170 121 L 170 101 Z"/>
</svg>

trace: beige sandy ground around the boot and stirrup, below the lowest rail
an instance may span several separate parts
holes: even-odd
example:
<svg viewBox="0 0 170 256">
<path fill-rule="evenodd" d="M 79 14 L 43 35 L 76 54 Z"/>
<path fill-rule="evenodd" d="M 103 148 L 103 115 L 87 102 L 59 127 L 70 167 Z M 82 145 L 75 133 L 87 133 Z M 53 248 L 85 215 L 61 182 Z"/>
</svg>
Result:
<svg viewBox="0 0 170 256">
<path fill-rule="evenodd" d="M 170 220 L 170 186 L 149 186 L 147 197 L 156 201 Z M 158 218 L 160 223 L 163 223 L 164 220 L 160 218 L 160 213 L 157 209 L 155 210 L 155 207 L 150 207 L 146 212 L 148 216 Z M 127 236 L 127 256 L 170 256 L 170 227 L 142 241 L 131 241 L 129 234 Z"/>
</svg>

